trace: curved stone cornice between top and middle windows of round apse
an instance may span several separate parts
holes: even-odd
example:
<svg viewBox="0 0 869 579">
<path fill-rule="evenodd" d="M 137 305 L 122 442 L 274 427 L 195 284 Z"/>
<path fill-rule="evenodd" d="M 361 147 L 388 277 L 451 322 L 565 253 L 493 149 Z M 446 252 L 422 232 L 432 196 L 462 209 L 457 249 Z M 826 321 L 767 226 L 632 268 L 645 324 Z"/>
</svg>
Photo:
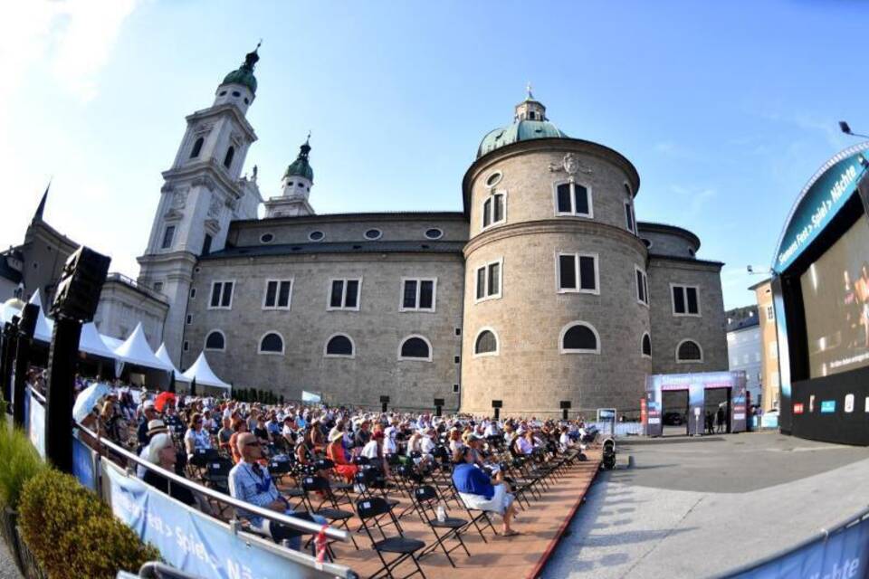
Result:
<svg viewBox="0 0 869 579">
<path fill-rule="evenodd" d="M 464 246 L 464 257 L 467 259 L 471 253 L 492 242 L 498 242 L 517 235 L 533 235 L 538 233 L 586 233 L 633 245 L 641 255 L 645 256 L 648 254 L 645 244 L 638 237 L 615 225 L 589 221 L 587 219 L 553 218 L 492 227 L 492 229 L 486 230 L 474 237 Z"/>
</svg>

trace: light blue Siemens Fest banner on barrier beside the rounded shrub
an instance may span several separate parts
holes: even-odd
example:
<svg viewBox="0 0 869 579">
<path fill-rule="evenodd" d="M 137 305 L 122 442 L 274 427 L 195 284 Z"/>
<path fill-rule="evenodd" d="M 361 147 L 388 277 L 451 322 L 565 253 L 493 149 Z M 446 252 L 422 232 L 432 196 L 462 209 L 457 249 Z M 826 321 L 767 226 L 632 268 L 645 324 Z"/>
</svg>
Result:
<svg viewBox="0 0 869 579">
<path fill-rule="evenodd" d="M 222 579 L 334 576 L 234 535 L 223 523 L 127 476 L 108 460 L 101 464 L 102 483 L 110 487 L 106 494 L 115 516 L 181 571 Z"/>
</svg>

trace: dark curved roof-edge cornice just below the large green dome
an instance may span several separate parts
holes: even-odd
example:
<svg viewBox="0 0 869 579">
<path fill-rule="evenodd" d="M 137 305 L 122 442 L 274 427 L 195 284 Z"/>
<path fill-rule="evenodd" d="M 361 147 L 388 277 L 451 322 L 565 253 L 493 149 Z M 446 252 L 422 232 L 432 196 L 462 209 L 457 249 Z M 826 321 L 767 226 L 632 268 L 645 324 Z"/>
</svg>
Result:
<svg viewBox="0 0 869 579">
<path fill-rule="evenodd" d="M 636 171 L 633 163 L 627 160 L 627 157 L 616 151 L 615 149 L 586 141 L 579 138 L 535 138 L 530 140 L 518 141 L 511 145 L 499 147 L 492 152 L 483 155 L 474 161 L 468 170 L 465 172 L 462 179 L 462 199 L 464 204 L 464 213 L 470 214 L 471 185 L 477 176 L 480 176 L 488 167 L 495 163 L 503 161 L 511 157 L 518 157 L 526 153 L 578 153 L 597 157 L 618 166 L 631 182 L 631 189 L 634 191 L 634 196 L 640 190 L 640 175 Z"/>
</svg>

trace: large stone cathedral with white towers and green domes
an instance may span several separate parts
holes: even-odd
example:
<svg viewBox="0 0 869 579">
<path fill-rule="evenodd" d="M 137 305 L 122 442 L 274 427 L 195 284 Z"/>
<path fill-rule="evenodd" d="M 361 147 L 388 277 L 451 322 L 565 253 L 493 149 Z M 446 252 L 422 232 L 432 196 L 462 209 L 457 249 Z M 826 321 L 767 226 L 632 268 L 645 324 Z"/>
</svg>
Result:
<svg viewBox="0 0 869 579">
<path fill-rule="evenodd" d="M 482 137 L 462 211 L 317 214 L 309 141 L 277 195 L 242 175 L 258 60 L 187 116 L 137 298 L 107 285 L 104 334 L 127 308 L 161 322 L 148 337 L 182 370 L 205 352 L 235 387 L 446 412 L 631 413 L 647 375 L 727 369 L 722 263 L 637 221 L 635 166 L 568 137 L 530 90 Z"/>
</svg>

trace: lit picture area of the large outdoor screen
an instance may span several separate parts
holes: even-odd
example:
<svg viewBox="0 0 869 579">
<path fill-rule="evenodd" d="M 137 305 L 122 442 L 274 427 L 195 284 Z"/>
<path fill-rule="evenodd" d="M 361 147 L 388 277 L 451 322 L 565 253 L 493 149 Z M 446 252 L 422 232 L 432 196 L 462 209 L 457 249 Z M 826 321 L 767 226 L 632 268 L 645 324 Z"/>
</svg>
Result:
<svg viewBox="0 0 869 579">
<path fill-rule="evenodd" d="M 869 365 L 869 225 L 861 217 L 800 277 L 809 375 Z"/>
</svg>

